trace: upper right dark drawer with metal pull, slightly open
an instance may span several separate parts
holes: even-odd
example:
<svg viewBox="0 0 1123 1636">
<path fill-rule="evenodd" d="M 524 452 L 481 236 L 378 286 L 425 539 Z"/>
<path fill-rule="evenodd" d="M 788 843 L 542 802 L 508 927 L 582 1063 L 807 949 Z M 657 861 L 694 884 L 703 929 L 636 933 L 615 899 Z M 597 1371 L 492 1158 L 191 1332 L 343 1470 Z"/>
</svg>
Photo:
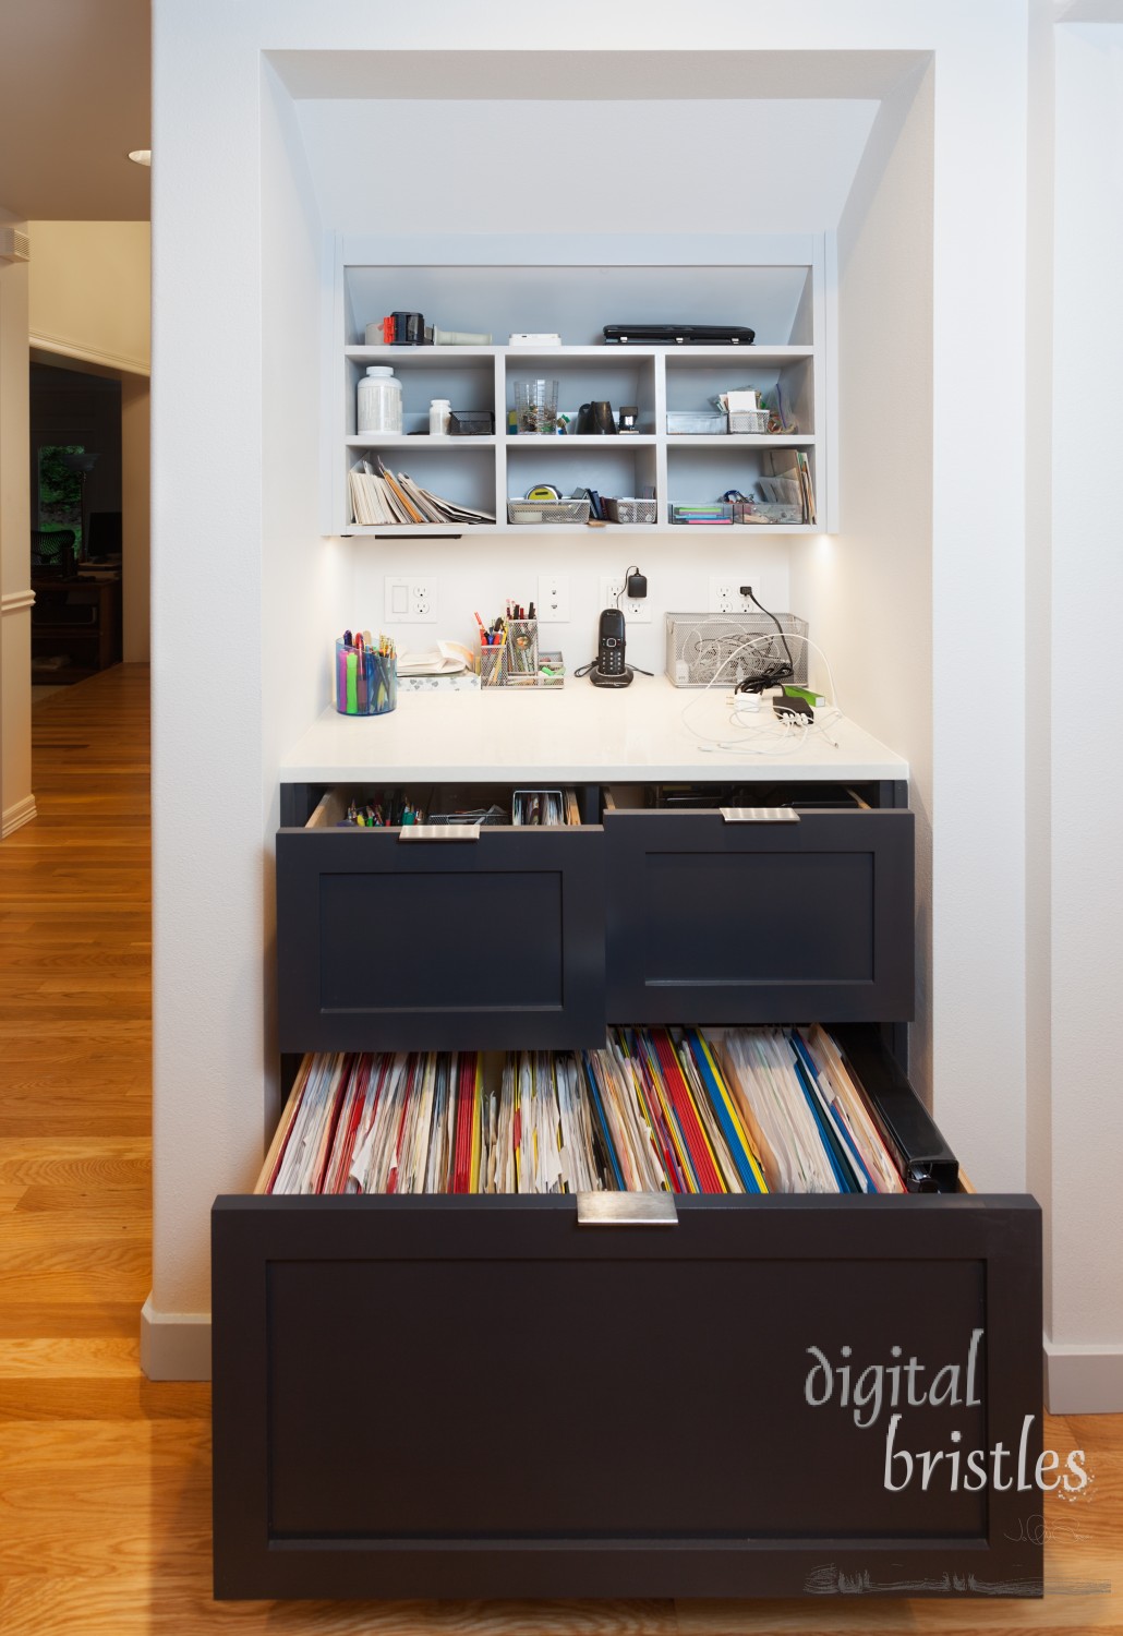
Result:
<svg viewBox="0 0 1123 1636">
<path fill-rule="evenodd" d="M 610 1021 L 910 1018 L 912 828 L 860 802 L 651 810 L 606 792 Z"/>
</svg>

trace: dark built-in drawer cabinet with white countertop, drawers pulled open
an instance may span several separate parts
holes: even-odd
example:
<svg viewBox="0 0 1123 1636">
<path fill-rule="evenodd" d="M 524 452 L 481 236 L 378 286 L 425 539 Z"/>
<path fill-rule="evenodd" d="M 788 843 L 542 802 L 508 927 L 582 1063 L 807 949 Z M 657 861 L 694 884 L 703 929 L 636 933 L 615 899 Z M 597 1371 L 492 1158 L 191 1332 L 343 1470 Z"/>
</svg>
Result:
<svg viewBox="0 0 1123 1636">
<path fill-rule="evenodd" d="M 1036 1489 L 961 1481 L 1040 1453 L 1040 1212 L 961 1189 L 907 1080 L 909 767 L 847 720 L 703 751 L 726 720 L 662 677 L 325 713 L 283 767 L 286 1088 L 821 1022 L 904 1191 L 284 1196 L 275 1145 L 213 1214 L 219 1597 L 1040 1595 Z M 562 821 L 481 818 L 525 787 Z"/>
</svg>

